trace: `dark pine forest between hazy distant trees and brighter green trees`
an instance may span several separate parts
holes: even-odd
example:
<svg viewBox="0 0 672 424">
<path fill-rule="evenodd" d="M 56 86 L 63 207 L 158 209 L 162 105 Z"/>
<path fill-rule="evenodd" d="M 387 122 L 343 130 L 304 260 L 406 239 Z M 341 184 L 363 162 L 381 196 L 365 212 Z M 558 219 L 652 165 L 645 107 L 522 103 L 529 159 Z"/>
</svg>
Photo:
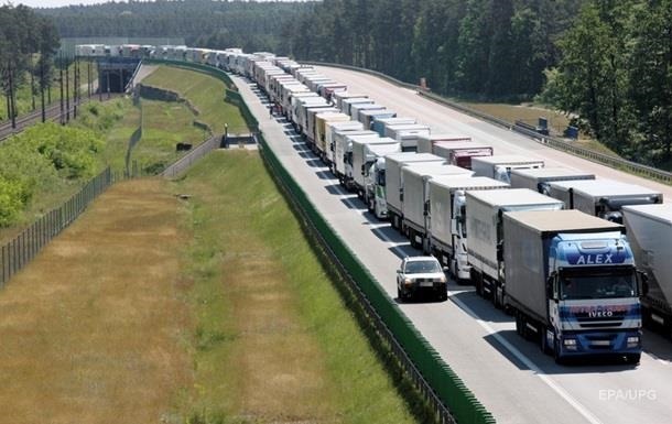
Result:
<svg viewBox="0 0 672 424">
<path fill-rule="evenodd" d="M 325 0 L 285 28 L 288 53 L 362 66 L 444 94 L 529 98 L 581 0 Z"/>
</svg>

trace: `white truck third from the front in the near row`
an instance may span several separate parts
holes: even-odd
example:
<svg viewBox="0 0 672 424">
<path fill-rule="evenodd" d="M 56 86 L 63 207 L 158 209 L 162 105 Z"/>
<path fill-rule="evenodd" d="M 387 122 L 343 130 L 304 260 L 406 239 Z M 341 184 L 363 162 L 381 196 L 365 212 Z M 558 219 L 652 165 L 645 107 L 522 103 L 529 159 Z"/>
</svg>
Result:
<svg viewBox="0 0 672 424">
<path fill-rule="evenodd" d="M 430 180 L 430 251 L 458 283 L 468 281 L 472 270 L 467 260 L 466 192 L 503 188 L 509 185 L 487 176 Z"/>
</svg>

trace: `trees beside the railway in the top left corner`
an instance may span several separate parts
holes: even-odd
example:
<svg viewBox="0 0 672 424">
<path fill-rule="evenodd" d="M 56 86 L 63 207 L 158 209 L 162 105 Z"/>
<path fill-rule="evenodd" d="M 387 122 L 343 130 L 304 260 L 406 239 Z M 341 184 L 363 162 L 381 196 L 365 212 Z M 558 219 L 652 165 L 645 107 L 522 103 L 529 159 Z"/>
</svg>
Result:
<svg viewBox="0 0 672 424">
<path fill-rule="evenodd" d="M 29 83 L 33 109 L 40 94 L 44 110 L 44 94 L 52 84 L 58 45 L 58 33 L 51 20 L 22 4 L 0 7 L 0 89 L 12 122 L 18 115 L 17 90 Z"/>
</svg>

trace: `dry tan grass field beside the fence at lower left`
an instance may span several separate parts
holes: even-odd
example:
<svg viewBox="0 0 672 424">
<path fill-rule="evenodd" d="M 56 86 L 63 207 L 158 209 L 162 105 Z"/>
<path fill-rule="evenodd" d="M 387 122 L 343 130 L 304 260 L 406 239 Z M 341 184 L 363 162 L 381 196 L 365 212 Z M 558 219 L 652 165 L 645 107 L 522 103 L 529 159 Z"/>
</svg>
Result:
<svg viewBox="0 0 672 424">
<path fill-rule="evenodd" d="M 191 365 L 176 200 L 110 188 L 0 292 L 0 423 L 158 423 Z"/>
</svg>

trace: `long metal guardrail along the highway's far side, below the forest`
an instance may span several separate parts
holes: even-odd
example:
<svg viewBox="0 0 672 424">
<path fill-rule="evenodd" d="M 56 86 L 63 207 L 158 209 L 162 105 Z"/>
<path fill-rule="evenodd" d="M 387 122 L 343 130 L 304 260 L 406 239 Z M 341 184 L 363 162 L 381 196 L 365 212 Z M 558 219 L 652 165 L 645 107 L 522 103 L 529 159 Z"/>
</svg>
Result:
<svg viewBox="0 0 672 424">
<path fill-rule="evenodd" d="M 356 72 L 373 75 L 373 76 L 377 76 L 379 78 L 387 80 L 388 83 L 394 84 L 397 86 L 413 89 L 418 93 L 418 95 L 420 95 L 422 97 L 426 97 L 430 100 L 433 100 L 441 105 L 456 109 L 463 113 L 467 113 L 469 116 L 473 116 L 478 119 L 483 119 L 483 120 L 494 123 L 496 126 L 507 128 L 511 131 L 516 131 L 520 134 L 531 138 L 532 140 L 536 141 L 541 144 L 548 145 L 555 150 L 560 150 L 565 153 L 570 153 L 575 156 L 579 156 L 579 157 L 586 159 L 588 161 L 613 167 L 615 170 L 626 171 L 626 172 L 635 174 L 635 175 L 639 175 L 639 176 L 642 176 L 646 178 L 655 180 L 661 183 L 672 185 L 672 173 L 670 173 L 670 172 L 658 170 L 653 166 L 642 165 L 640 163 L 628 161 L 628 160 L 625 160 L 621 157 L 615 157 L 615 156 L 610 156 L 608 154 L 595 152 L 589 149 L 585 149 L 585 148 L 575 145 L 572 142 L 567 142 L 563 139 L 559 139 L 555 137 L 542 135 L 542 134 L 538 133 L 536 131 L 530 131 L 520 126 L 516 126 L 513 122 L 505 121 L 505 120 L 496 118 L 491 115 L 481 112 L 479 110 L 472 109 L 464 105 L 452 101 L 443 96 L 424 90 L 418 85 L 401 81 L 397 78 L 393 78 L 393 77 L 386 75 L 383 73 L 380 73 L 378 70 L 371 70 L 371 69 L 366 69 L 366 68 L 361 68 L 361 67 L 357 67 L 357 66 L 342 65 L 342 64 L 335 64 L 335 63 L 328 63 L 328 62 L 302 62 L 302 63 L 306 64 L 306 65 L 316 65 L 316 66 L 333 66 L 333 67 L 338 67 L 338 68 L 343 68 L 343 69 L 356 70 Z"/>
</svg>

